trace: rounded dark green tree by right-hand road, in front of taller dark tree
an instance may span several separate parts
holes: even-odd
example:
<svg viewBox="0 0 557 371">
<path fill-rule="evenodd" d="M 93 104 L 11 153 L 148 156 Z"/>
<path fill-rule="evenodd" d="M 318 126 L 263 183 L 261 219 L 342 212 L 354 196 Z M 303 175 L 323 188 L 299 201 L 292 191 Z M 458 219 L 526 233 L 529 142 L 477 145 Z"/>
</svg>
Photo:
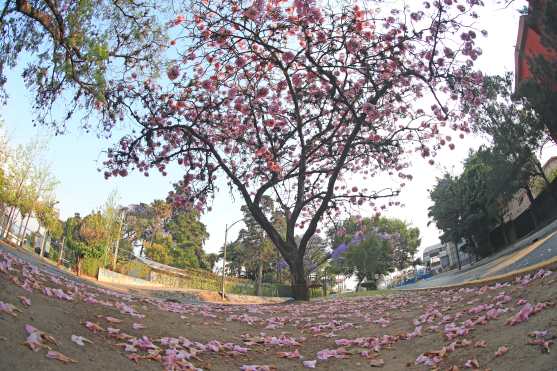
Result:
<svg viewBox="0 0 557 371">
<path fill-rule="evenodd" d="M 497 146 L 481 147 L 470 152 L 460 176 L 438 179 L 430 193 L 429 216 L 443 231 L 441 241 L 458 245 L 464 239 L 476 255 L 493 252 L 489 233 L 504 224 L 507 204 L 516 192 L 528 187 L 528 164 L 513 161 Z M 505 228 L 502 231 L 508 244 L 510 237 Z"/>
</svg>

